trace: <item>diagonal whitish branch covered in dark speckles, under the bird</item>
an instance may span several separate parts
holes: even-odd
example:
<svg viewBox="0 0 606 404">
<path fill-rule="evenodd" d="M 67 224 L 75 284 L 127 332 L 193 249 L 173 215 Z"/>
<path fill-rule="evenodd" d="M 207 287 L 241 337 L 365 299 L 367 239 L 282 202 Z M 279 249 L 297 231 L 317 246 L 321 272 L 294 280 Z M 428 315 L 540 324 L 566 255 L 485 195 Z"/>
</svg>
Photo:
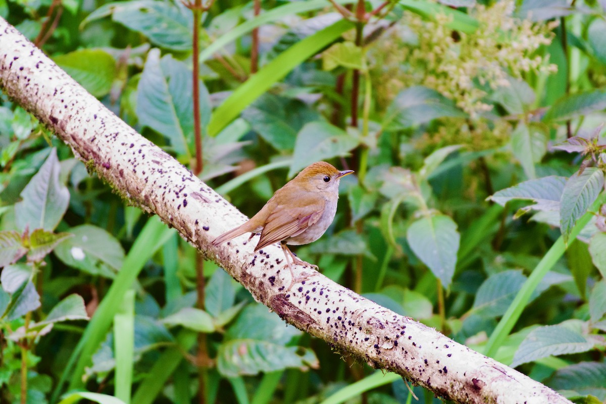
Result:
<svg viewBox="0 0 606 404">
<path fill-rule="evenodd" d="M 216 260 L 255 299 L 338 351 L 404 376 L 461 403 L 570 403 L 550 388 L 408 317 L 359 296 L 310 268 L 290 291 L 276 245 L 253 253 L 241 236 L 211 240 L 247 219 L 167 153 L 136 133 L 0 18 L 0 87 L 72 147 L 99 177 L 158 214 Z"/>
</svg>

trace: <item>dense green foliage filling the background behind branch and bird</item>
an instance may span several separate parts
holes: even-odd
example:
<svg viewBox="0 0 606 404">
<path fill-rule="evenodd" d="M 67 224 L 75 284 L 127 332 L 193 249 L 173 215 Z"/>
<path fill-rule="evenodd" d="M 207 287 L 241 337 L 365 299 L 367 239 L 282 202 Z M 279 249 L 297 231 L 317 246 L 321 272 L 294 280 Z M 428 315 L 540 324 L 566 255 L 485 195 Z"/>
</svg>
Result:
<svg viewBox="0 0 606 404">
<path fill-rule="evenodd" d="M 356 170 L 299 256 L 605 402 L 604 2 L 202 6 L 202 170 L 196 12 L 0 0 L 0 15 L 248 216 L 310 162 Z M 0 103 L 1 402 L 410 402 L 401 379 L 285 326 Z"/>
</svg>

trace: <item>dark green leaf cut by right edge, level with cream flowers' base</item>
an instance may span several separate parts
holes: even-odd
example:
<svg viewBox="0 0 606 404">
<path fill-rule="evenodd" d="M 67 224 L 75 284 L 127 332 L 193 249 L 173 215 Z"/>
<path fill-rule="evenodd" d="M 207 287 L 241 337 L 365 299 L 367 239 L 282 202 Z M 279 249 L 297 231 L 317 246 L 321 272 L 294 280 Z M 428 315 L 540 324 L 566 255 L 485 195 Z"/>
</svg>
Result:
<svg viewBox="0 0 606 404">
<path fill-rule="evenodd" d="M 567 95 L 556 101 L 544 121 L 565 121 L 606 108 L 606 90 Z"/>
</svg>

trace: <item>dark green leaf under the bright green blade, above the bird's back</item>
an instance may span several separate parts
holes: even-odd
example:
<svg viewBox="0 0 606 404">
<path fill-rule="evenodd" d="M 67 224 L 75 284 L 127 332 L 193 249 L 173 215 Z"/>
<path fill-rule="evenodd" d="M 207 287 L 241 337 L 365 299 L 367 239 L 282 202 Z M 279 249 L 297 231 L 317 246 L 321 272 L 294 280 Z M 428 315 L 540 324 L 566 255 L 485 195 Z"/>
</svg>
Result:
<svg viewBox="0 0 606 404">
<path fill-rule="evenodd" d="M 270 93 L 263 94 L 242 111 L 242 118 L 278 150 L 293 150 L 299 130 L 309 122 L 322 120 L 322 116 L 304 102 Z"/>
</svg>

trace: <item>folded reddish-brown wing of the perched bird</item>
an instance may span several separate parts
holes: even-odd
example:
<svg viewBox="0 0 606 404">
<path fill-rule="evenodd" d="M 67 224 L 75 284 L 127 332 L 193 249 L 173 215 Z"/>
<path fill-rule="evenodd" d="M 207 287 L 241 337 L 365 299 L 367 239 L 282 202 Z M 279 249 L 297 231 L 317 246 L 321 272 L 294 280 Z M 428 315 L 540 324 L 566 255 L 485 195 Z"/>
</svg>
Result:
<svg viewBox="0 0 606 404">
<path fill-rule="evenodd" d="M 315 224 L 324 212 L 324 199 L 318 200 L 315 194 L 299 198 L 296 204 L 299 207 L 293 207 L 292 204 L 278 205 L 271 212 L 255 251 L 288 237 L 298 236 Z"/>
</svg>

